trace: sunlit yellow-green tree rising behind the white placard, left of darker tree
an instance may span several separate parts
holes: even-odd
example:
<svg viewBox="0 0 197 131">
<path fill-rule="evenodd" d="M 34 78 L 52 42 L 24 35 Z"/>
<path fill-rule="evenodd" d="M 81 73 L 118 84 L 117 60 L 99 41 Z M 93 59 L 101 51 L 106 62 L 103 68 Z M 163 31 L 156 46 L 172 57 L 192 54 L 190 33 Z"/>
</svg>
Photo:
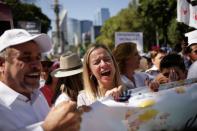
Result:
<svg viewBox="0 0 197 131">
<path fill-rule="evenodd" d="M 101 35 L 96 41 L 114 47 L 115 32 L 135 32 L 141 27 L 141 18 L 137 14 L 136 8 L 126 8 L 121 10 L 116 16 L 105 22 L 101 28 Z"/>
</svg>

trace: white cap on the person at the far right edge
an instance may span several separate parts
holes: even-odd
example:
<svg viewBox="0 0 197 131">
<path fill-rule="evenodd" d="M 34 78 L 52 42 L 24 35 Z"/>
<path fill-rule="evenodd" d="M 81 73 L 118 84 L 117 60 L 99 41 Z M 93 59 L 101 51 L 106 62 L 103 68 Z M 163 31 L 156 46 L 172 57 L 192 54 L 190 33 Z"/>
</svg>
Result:
<svg viewBox="0 0 197 131">
<path fill-rule="evenodd" d="M 188 37 L 188 46 L 197 44 L 197 30 L 185 33 L 185 36 Z"/>
</svg>

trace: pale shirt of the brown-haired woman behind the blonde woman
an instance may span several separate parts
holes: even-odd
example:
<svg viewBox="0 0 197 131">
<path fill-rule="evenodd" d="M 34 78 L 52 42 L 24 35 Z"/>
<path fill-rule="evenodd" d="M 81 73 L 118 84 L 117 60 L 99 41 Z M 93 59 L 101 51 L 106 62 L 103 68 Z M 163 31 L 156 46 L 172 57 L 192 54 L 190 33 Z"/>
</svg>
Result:
<svg viewBox="0 0 197 131">
<path fill-rule="evenodd" d="M 137 87 L 143 87 L 145 85 L 145 80 L 150 80 L 150 76 L 147 73 L 144 72 L 135 72 L 133 74 L 135 84 L 133 81 L 128 79 L 125 75 L 121 75 L 121 80 L 123 84 L 126 86 L 126 89 L 134 89 Z"/>
</svg>

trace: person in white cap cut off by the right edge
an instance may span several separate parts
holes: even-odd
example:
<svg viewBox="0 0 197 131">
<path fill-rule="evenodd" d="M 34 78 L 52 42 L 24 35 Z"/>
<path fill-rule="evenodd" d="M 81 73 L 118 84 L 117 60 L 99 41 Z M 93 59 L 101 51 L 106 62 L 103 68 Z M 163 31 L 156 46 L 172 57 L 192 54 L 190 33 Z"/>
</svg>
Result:
<svg viewBox="0 0 197 131">
<path fill-rule="evenodd" d="M 185 34 L 185 36 L 188 37 L 186 54 L 193 63 L 197 60 L 197 30 L 188 32 Z"/>
</svg>

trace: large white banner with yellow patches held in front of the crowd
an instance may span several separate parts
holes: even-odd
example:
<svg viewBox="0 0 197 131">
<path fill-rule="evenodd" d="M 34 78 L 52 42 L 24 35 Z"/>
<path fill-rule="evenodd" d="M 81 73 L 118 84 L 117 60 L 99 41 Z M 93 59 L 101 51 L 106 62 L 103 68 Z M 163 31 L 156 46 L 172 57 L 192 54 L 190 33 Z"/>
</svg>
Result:
<svg viewBox="0 0 197 131">
<path fill-rule="evenodd" d="M 182 85 L 184 82 L 177 85 Z M 81 131 L 175 131 L 197 126 L 197 83 L 134 93 L 128 102 L 105 98 L 84 113 Z"/>
</svg>

